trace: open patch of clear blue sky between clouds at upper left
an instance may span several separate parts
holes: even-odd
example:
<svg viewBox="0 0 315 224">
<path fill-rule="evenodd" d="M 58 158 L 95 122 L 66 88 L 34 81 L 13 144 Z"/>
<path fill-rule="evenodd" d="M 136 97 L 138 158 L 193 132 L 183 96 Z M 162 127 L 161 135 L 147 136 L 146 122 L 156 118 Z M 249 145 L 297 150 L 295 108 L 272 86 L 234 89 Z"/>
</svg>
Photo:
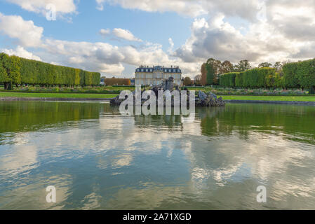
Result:
<svg viewBox="0 0 315 224">
<path fill-rule="evenodd" d="M 185 43 L 189 37 L 189 26 L 193 18 L 182 17 L 177 13 L 147 13 L 142 10 L 126 10 L 107 4 L 104 10 L 97 10 L 93 1 L 81 0 L 77 4 L 78 13 L 70 15 L 72 22 L 58 19 L 48 21 L 41 14 L 23 10 L 20 6 L 0 1 L 0 12 L 5 15 L 20 15 L 24 20 L 32 20 L 39 27 L 45 27 L 44 36 L 67 41 L 106 41 L 123 45 L 122 41 L 100 36 L 100 29 L 128 29 L 143 40 L 160 43 L 163 50 L 169 47 L 168 38 L 173 38 L 175 47 Z M 144 19 L 145 18 L 145 19 Z M 1 42 L 0 47 L 6 47 Z"/>
</svg>

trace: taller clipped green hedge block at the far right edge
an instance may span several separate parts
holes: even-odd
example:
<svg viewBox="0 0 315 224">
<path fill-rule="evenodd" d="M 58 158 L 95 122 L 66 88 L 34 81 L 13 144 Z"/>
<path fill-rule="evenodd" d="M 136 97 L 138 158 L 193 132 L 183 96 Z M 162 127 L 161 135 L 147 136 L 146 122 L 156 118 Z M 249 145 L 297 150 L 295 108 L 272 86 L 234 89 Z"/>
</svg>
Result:
<svg viewBox="0 0 315 224">
<path fill-rule="evenodd" d="M 315 59 L 293 62 L 283 66 L 284 85 L 286 87 L 315 87 Z"/>
</svg>

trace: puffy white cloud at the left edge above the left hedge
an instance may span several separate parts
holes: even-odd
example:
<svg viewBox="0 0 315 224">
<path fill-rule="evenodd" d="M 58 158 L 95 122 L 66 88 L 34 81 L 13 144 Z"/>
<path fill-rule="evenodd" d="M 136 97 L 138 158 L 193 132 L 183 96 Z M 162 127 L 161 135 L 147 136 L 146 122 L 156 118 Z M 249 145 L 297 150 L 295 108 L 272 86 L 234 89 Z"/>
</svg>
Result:
<svg viewBox="0 0 315 224">
<path fill-rule="evenodd" d="M 32 20 L 26 21 L 18 15 L 3 15 L 0 13 L 0 32 L 11 38 L 17 38 L 24 47 L 41 45 L 43 28 L 36 27 Z"/>
</svg>

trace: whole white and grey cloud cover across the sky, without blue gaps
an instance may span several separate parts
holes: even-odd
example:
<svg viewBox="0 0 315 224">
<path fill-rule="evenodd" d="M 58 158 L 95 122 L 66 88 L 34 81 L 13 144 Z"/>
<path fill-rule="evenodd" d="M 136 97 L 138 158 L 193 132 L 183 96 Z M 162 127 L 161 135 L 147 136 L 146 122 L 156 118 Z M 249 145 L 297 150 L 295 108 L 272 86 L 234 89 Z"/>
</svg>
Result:
<svg viewBox="0 0 315 224">
<path fill-rule="evenodd" d="M 28 2 L 28 1 L 24 1 Z M 30 2 L 30 1 L 29 1 Z M 36 2 L 36 1 L 35 1 Z M 109 43 L 61 41 L 43 38 L 43 28 L 19 16 L 0 14 L 0 31 L 16 38 L 22 48 L 41 48 L 36 51 L 41 59 L 91 71 L 117 75 L 124 66 L 178 65 L 184 76 L 194 77 L 209 57 L 238 62 L 249 59 L 253 64 L 284 60 L 309 59 L 315 55 L 314 0 L 263 1 L 129 1 L 98 0 L 123 8 L 149 12 L 172 11 L 180 15 L 196 16 L 187 41 L 174 49 L 164 51 L 156 43 L 142 41 L 126 29 L 100 29 L 102 36 L 139 42 L 136 46 L 116 46 Z M 26 7 L 26 6 L 25 6 Z M 264 10 L 265 9 L 265 10 Z M 208 14 L 207 19 L 200 15 Z M 244 23 L 245 25 L 240 25 Z M 28 50 L 28 49 L 27 49 Z M 16 51 L 16 50 L 15 50 Z"/>
</svg>

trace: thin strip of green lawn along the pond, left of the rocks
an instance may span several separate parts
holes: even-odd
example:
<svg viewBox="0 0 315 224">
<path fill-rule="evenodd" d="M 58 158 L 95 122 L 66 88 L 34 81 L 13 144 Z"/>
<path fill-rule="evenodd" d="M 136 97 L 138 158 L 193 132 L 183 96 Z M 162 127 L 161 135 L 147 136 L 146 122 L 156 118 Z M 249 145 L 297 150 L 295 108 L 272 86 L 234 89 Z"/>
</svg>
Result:
<svg viewBox="0 0 315 224">
<path fill-rule="evenodd" d="M 0 97 L 113 98 L 117 94 L 0 92 Z"/>
</svg>

